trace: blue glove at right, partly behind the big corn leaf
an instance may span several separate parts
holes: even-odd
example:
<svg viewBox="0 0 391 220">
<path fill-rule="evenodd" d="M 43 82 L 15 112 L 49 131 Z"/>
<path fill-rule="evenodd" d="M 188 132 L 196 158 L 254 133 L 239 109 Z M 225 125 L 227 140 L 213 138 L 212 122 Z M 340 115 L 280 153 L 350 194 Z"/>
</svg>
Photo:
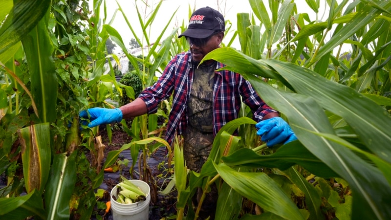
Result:
<svg viewBox="0 0 391 220">
<path fill-rule="evenodd" d="M 295 133 L 281 117 L 260 121 L 255 127 L 259 129 L 257 134 L 261 135 L 261 140 L 266 142 L 267 147 L 272 147 L 282 142 L 286 144 L 297 140 Z"/>
</svg>

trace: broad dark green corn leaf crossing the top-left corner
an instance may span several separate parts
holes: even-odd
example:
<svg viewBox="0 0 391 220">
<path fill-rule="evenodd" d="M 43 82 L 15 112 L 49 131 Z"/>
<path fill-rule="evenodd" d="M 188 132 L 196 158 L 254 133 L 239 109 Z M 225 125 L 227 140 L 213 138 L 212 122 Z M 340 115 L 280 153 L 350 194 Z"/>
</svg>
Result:
<svg viewBox="0 0 391 220">
<path fill-rule="evenodd" d="M 50 2 L 50 0 L 15 1 L 16 4 L 10 11 L 12 1 L 11 3 L 9 0 L 1 1 L 0 18 L 4 17 L 7 11 L 9 14 L 0 28 L 0 54 L 21 41 L 41 21 L 50 7 Z"/>
</svg>

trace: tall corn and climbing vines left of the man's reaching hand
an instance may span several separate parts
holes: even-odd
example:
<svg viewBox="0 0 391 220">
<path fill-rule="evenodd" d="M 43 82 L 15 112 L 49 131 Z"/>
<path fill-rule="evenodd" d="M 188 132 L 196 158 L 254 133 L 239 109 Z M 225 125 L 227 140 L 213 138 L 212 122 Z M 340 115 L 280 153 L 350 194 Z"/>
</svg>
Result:
<svg viewBox="0 0 391 220">
<path fill-rule="evenodd" d="M 102 72 L 95 61 L 105 48 L 89 41 L 86 27 L 98 20 L 88 12 L 87 1 L 2 1 L 1 218 L 89 219 L 94 211 L 103 169 L 84 151 L 98 158 L 102 145 L 92 141 L 97 130 L 81 138 L 78 114 L 87 98 L 105 104 L 108 88 L 91 77 Z"/>
</svg>

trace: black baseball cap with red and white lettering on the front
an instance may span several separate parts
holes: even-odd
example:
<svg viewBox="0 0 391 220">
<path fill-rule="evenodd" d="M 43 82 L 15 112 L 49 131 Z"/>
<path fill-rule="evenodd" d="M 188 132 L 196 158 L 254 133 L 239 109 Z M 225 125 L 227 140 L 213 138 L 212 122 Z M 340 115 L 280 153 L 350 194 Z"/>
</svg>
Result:
<svg viewBox="0 0 391 220">
<path fill-rule="evenodd" d="M 217 31 L 225 31 L 224 17 L 217 10 L 204 7 L 192 14 L 189 20 L 189 26 L 182 36 L 191 38 L 207 38 Z"/>
</svg>

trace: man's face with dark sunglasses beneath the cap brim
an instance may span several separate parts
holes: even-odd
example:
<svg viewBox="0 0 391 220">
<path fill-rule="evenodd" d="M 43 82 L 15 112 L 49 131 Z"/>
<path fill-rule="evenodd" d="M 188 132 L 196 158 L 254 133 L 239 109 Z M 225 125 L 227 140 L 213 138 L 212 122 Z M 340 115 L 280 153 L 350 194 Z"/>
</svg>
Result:
<svg viewBox="0 0 391 220">
<path fill-rule="evenodd" d="M 199 63 L 206 54 L 217 49 L 224 37 L 224 32 L 218 32 L 208 38 L 189 38 L 187 41 L 190 45 L 193 61 Z"/>
</svg>

